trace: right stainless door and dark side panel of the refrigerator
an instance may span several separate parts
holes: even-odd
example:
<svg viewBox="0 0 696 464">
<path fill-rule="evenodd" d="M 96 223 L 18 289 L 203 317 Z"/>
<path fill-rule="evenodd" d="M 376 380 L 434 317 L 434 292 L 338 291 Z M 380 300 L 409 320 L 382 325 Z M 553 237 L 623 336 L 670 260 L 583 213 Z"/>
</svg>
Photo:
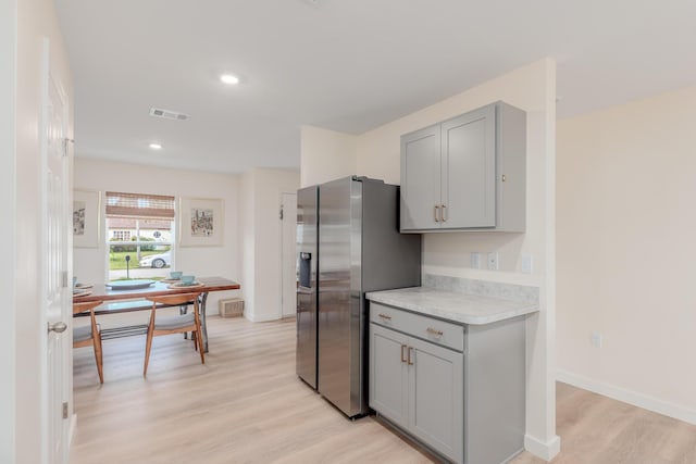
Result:
<svg viewBox="0 0 696 464">
<path fill-rule="evenodd" d="M 364 292 L 421 284 L 420 236 L 399 234 L 398 197 L 366 178 L 319 186 L 318 390 L 349 417 L 369 412 Z"/>
</svg>

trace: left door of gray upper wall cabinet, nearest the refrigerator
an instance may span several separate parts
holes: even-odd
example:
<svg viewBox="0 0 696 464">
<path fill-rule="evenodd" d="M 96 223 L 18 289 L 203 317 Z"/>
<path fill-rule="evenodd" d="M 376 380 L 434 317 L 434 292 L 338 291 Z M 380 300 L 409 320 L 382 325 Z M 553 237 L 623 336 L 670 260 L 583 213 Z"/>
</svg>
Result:
<svg viewBox="0 0 696 464">
<path fill-rule="evenodd" d="M 401 230 L 438 228 L 439 124 L 401 137 Z"/>
</svg>

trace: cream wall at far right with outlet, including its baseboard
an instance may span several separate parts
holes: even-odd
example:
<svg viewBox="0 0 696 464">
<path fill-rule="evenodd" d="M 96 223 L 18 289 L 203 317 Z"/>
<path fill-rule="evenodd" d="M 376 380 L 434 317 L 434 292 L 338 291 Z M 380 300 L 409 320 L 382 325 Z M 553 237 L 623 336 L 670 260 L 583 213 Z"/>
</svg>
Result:
<svg viewBox="0 0 696 464">
<path fill-rule="evenodd" d="M 559 378 L 693 424 L 695 147 L 696 87 L 558 124 Z"/>
</svg>

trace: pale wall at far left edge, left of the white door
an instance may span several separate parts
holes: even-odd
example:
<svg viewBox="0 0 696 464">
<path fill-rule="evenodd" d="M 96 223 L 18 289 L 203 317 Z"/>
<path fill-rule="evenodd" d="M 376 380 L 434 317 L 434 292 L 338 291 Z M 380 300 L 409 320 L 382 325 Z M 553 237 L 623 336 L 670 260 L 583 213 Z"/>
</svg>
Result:
<svg viewBox="0 0 696 464">
<path fill-rule="evenodd" d="M 45 457 L 40 442 L 40 385 L 45 375 L 41 356 L 45 355 L 46 323 L 36 287 L 41 249 L 39 123 L 44 38 L 50 41 L 51 67 L 66 91 L 72 110 L 72 75 L 53 2 L 2 2 L 0 190 L 3 200 L 0 208 L 9 225 L 5 228 L 11 229 L 3 231 L 0 240 L 0 252 L 7 263 L 2 271 L 2 292 L 9 296 L 3 301 L 2 312 L 5 315 L 3 338 L 7 339 L 0 342 L 0 461 L 3 463 L 38 463 Z M 69 137 L 72 137 L 72 121 L 71 111 Z M 10 274 L 8 280 L 5 273 Z"/>
</svg>

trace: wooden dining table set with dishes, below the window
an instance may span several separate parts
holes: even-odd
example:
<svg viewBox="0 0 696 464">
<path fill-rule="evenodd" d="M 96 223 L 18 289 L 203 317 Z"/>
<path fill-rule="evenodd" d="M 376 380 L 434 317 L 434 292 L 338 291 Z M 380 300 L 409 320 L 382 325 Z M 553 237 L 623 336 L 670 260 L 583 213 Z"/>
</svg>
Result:
<svg viewBox="0 0 696 464">
<path fill-rule="evenodd" d="M 148 297 L 200 292 L 198 301 L 200 308 L 201 335 L 203 337 L 204 351 L 208 352 L 208 326 L 206 323 L 206 302 L 208 301 L 208 294 L 211 291 L 238 290 L 240 286 L 236 281 L 229 280 L 224 277 L 198 277 L 196 280 L 197 283 L 200 283 L 202 285 L 178 287 L 172 285 L 171 283 L 162 283 L 158 280 L 154 280 L 152 285 L 149 285 L 145 288 L 129 289 L 115 289 L 104 284 L 94 285 L 90 288 L 86 288 L 84 294 L 73 294 L 73 302 L 79 303 L 86 301 L 103 301 L 107 304 L 97 308 L 95 310 L 95 314 L 104 315 L 132 311 L 148 311 L 152 308 L 151 304 L 144 303 L 144 300 Z M 111 302 L 122 301 L 133 301 L 133 304 L 109 304 Z M 137 327 L 142 329 L 147 326 Z"/>
</svg>

